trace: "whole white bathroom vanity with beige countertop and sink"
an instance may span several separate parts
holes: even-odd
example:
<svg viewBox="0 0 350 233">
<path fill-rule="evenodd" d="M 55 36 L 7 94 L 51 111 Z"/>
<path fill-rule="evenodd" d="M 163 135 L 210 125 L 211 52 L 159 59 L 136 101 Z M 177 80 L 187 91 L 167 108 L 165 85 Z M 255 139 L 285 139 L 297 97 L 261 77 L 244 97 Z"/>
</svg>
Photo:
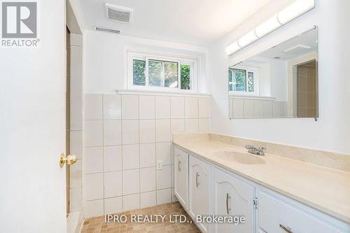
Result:
<svg viewBox="0 0 350 233">
<path fill-rule="evenodd" d="M 245 223 L 197 223 L 202 232 L 350 232 L 349 172 L 209 139 L 174 135 L 174 192 L 196 216 L 244 216 Z"/>
</svg>

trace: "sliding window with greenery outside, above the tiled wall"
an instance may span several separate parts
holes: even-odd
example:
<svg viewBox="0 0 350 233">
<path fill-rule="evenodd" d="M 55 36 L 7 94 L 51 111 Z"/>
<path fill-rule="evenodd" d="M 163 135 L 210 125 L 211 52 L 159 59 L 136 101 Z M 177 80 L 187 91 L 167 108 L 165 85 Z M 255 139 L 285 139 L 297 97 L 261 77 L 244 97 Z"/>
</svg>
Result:
<svg viewBox="0 0 350 233">
<path fill-rule="evenodd" d="M 197 60 L 128 52 L 128 88 L 197 90 Z"/>
</svg>

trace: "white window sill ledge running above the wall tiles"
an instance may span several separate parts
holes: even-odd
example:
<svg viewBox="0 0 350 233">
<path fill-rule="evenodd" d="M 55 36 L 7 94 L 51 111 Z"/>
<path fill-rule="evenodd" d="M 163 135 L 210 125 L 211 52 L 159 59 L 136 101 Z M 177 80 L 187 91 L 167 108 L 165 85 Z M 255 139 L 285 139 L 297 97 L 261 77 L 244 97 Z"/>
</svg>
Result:
<svg viewBox="0 0 350 233">
<path fill-rule="evenodd" d="M 181 96 L 181 97 L 211 97 L 211 94 L 188 92 L 187 90 L 132 90 L 132 89 L 118 89 L 117 94 L 141 94 L 141 95 L 162 95 L 162 96 Z"/>
</svg>

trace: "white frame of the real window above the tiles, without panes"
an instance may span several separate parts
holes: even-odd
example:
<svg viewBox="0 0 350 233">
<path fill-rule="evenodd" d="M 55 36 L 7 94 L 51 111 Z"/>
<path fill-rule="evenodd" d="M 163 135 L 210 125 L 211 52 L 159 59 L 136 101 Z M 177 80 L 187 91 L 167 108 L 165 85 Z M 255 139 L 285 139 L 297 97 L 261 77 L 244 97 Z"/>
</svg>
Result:
<svg viewBox="0 0 350 233">
<path fill-rule="evenodd" d="M 145 85 L 134 85 L 134 59 L 146 62 L 145 71 Z M 136 50 L 127 50 L 127 90 L 152 90 L 158 92 L 184 92 L 184 93 L 198 93 L 199 76 L 198 76 L 198 59 L 199 57 L 188 57 L 185 55 L 164 55 L 157 52 L 142 52 Z M 162 87 L 149 85 L 148 62 L 155 60 L 162 62 Z M 164 87 L 165 82 L 165 63 L 176 62 L 178 64 L 178 87 Z M 181 64 L 190 65 L 190 90 L 181 89 Z"/>
</svg>

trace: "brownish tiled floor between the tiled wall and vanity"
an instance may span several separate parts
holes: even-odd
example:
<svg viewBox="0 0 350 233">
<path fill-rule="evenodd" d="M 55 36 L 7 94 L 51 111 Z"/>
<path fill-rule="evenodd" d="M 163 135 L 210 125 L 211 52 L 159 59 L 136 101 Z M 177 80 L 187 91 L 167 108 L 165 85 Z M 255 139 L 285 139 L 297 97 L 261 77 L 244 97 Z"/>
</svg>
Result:
<svg viewBox="0 0 350 233">
<path fill-rule="evenodd" d="M 85 220 L 83 230 L 81 233 L 124 233 L 124 232 L 147 232 L 147 233 L 166 233 L 166 232 L 200 232 L 195 223 L 192 223 L 192 219 L 182 209 L 179 202 L 173 202 L 169 204 L 162 204 L 159 206 L 153 206 L 146 209 L 139 209 L 136 211 L 127 211 L 124 213 L 118 213 L 117 216 L 125 215 L 127 217 L 126 223 L 106 223 L 105 216 L 99 216 L 94 218 L 88 218 Z M 159 217 L 158 223 L 134 223 L 132 216 L 141 215 L 143 218 L 148 216 L 150 220 L 153 217 L 155 220 L 156 215 L 165 216 L 164 221 Z M 174 222 L 174 215 L 186 216 L 186 223 L 170 223 Z M 147 221 L 146 221 L 147 222 Z"/>
</svg>

